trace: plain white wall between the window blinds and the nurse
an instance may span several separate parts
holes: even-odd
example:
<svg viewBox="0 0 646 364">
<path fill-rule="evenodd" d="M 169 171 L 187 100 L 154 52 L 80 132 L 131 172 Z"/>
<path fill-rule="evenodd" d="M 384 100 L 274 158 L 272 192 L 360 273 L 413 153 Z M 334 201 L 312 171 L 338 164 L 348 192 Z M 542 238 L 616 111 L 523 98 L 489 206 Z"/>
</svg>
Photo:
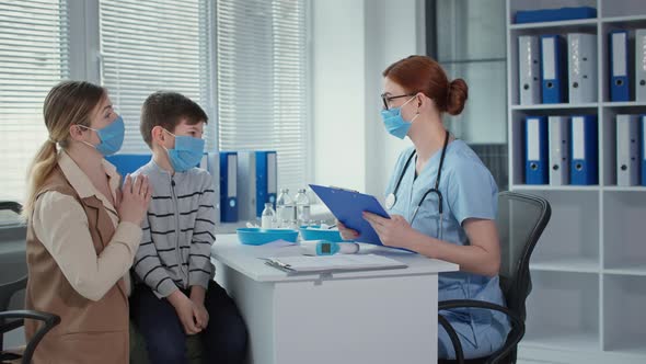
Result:
<svg viewBox="0 0 646 364">
<path fill-rule="evenodd" d="M 423 0 L 312 0 L 314 182 L 382 197 L 408 139 L 381 122 L 382 76 L 425 53 Z"/>
</svg>

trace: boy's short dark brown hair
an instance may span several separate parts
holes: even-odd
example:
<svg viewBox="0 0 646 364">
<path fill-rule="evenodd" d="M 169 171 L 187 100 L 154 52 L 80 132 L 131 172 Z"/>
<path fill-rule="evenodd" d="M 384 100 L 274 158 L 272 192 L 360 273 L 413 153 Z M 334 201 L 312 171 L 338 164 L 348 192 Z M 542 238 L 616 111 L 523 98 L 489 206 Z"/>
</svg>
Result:
<svg viewBox="0 0 646 364">
<path fill-rule="evenodd" d="M 152 128 L 161 126 L 175 133 L 175 127 L 186 118 L 188 125 L 199 122 L 208 123 L 206 113 L 193 100 L 177 92 L 157 91 L 141 106 L 141 124 L 139 130 L 143 141 L 152 148 Z"/>
</svg>

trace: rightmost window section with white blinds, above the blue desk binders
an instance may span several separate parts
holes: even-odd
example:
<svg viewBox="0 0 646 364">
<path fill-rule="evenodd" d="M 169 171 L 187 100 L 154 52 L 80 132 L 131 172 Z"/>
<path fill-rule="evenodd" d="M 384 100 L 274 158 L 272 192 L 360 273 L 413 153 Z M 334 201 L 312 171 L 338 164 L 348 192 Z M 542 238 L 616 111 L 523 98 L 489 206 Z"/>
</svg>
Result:
<svg viewBox="0 0 646 364">
<path fill-rule="evenodd" d="M 217 1 L 220 149 L 276 150 L 278 185 L 305 183 L 305 0 Z"/>
</svg>

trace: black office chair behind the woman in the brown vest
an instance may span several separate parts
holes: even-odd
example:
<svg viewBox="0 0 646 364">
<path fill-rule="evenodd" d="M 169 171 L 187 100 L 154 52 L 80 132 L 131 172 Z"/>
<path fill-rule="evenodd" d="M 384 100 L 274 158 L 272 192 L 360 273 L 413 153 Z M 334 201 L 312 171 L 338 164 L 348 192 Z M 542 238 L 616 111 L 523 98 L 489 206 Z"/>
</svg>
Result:
<svg viewBox="0 0 646 364">
<path fill-rule="evenodd" d="M 16 202 L 0 201 L 0 211 L 9 209 L 20 214 L 22 206 Z M 21 363 L 31 363 L 36 346 L 43 340 L 43 337 L 60 322 L 60 317 L 47 312 L 34 310 L 8 310 L 11 297 L 18 292 L 24 289 L 27 285 L 27 276 L 16 281 L 0 284 L 0 363 L 5 361 L 21 360 Z M 26 348 L 19 354 L 18 352 L 5 352 L 3 346 L 3 335 L 5 332 L 15 330 L 24 325 L 24 319 L 43 321 L 44 325 L 36 331 L 32 340 L 27 342 Z"/>
</svg>

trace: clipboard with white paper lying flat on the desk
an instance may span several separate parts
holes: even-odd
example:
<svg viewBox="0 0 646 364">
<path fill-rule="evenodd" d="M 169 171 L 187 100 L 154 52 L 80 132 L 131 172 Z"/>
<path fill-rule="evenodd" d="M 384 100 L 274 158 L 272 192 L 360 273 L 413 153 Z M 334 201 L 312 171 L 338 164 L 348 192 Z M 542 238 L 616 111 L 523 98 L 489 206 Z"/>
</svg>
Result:
<svg viewBox="0 0 646 364">
<path fill-rule="evenodd" d="M 269 258 L 268 260 L 278 262 L 279 265 L 295 272 L 406 268 L 406 264 L 402 262 L 377 254 L 297 255 Z"/>
</svg>

